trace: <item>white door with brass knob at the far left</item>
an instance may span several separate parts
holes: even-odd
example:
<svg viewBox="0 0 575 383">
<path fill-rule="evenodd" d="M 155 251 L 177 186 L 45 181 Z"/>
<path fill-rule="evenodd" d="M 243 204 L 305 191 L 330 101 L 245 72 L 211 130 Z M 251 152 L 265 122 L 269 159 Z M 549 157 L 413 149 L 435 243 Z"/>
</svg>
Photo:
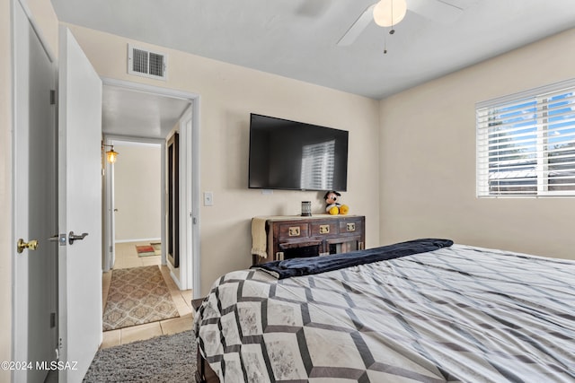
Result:
<svg viewBox="0 0 575 383">
<path fill-rule="evenodd" d="M 13 382 L 43 382 L 36 363 L 57 348 L 56 65 L 19 2 L 13 20 L 13 361 L 27 362 Z"/>
</svg>

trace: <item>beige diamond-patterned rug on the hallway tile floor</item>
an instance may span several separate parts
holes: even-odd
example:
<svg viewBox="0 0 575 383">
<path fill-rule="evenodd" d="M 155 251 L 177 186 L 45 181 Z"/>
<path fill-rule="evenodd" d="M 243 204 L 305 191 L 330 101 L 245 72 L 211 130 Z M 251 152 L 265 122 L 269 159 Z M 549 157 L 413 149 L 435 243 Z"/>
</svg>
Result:
<svg viewBox="0 0 575 383">
<path fill-rule="evenodd" d="M 103 331 L 179 316 L 157 265 L 112 271 Z"/>
</svg>

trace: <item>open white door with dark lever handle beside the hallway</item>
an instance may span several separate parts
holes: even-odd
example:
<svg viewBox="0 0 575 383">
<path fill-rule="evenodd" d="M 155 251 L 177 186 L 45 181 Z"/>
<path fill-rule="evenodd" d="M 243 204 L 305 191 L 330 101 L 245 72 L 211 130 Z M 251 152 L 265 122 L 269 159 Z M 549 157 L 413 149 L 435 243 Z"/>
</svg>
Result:
<svg viewBox="0 0 575 383">
<path fill-rule="evenodd" d="M 102 343 L 102 81 L 64 26 L 58 49 L 59 381 L 78 382 Z"/>
</svg>

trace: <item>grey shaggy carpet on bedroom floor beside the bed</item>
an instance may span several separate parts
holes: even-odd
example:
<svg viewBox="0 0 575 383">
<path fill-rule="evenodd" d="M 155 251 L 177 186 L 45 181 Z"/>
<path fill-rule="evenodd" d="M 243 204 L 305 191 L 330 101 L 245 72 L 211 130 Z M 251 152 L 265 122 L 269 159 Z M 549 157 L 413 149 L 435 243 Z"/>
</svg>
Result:
<svg viewBox="0 0 575 383">
<path fill-rule="evenodd" d="M 195 371 L 196 338 L 185 331 L 98 351 L 84 382 L 193 382 Z"/>
</svg>

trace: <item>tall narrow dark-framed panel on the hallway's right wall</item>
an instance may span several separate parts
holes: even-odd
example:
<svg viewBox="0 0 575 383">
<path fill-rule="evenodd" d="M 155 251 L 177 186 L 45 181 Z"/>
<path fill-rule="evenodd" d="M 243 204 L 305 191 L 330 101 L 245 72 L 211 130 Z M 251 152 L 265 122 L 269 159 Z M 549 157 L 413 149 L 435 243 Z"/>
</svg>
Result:
<svg viewBox="0 0 575 383">
<path fill-rule="evenodd" d="M 180 135 L 168 140 L 168 260 L 180 266 Z"/>
</svg>

